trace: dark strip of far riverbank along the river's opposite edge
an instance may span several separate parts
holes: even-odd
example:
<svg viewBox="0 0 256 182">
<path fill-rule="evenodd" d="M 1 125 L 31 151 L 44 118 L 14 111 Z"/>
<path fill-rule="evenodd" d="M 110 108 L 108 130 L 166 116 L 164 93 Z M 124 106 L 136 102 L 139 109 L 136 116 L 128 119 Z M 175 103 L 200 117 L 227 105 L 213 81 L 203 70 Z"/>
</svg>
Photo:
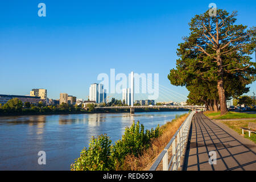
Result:
<svg viewBox="0 0 256 182">
<path fill-rule="evenodd" d="M 22 116 L 22 115 L 65 115 L 65 114 L 99 114 L 99 113 L 130 113 L 130 109 L 98 109 L 94 111 L 86 111 L 86 110 L 80 110 L 80 111 L 44 111 L 44 112 L 38 112 L 38 111 L 26 111 L 27 109 L 24 109 L 20 113 L 0 113 L 0 117 L 6 117 L 6 116 Z M 144 112 L 170 112 L 170 111 L 189 111 L 189 109 L 169 109 L 169 108 L 161 108 L 161 109 L 136 109 L 136 113 L 144 113 Z"/>
</svg>

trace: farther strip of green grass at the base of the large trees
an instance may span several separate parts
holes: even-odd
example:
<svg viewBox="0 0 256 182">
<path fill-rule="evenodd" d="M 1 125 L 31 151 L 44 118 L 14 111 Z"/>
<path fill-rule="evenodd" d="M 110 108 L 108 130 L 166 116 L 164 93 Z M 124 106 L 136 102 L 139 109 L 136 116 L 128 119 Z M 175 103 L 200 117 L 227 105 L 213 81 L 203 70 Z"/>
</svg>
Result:
<svg viewBox="0 0 256 182">
<path fill-rule="evenodd" d="M 256 114 L 237 113 L 229 111 L 227 114 L 221 115 L 220 112 L 206 111 L 204 114 L 210 119 L 237 119 L 237 118 L 256 118 Z"/>
</svg>

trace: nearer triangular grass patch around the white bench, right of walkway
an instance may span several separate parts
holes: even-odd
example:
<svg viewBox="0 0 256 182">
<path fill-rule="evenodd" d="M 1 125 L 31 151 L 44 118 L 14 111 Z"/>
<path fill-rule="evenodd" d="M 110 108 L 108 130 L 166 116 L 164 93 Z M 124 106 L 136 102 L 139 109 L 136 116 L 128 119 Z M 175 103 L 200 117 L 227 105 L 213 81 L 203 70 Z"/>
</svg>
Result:
<svg viewBox="0 0 256 182">
<path fill-rule="evenodd" d="M 232 130 L 236 131 L 238 134 L 242 135 L 241 127 L 248 127 L 249 122 L 256 123 L 256 119 L 251 120 L 251 121 L 242 121 L 242 120 L 241 121 L 222 121 L 221 123 L 224 123 L 226 126 L 230 127 L 230 129 L 232 129 Z M 250 139 L 251 141 L 256 143 L 256 134 L 255 133 L 251 133 L 251 137 L 249 137 L 248 131 L 244 131 L 243 137 Z"/>
</svg>

